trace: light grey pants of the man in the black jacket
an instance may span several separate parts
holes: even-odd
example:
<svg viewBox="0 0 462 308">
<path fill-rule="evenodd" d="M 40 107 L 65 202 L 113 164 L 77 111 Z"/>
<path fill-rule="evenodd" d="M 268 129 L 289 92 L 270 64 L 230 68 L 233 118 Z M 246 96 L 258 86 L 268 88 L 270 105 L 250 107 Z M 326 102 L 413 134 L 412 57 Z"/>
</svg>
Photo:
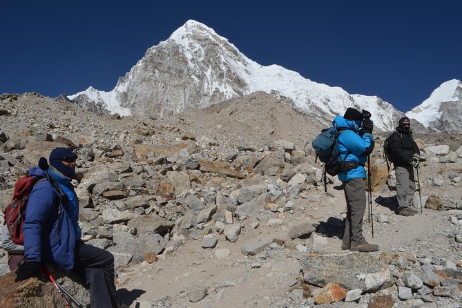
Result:
<svg viewBox="0 0 462 308">
<path fill-rule="evenodd" d="M 398 199 L 398 211 L 407 206 L 414 205 L 414 193 L 416 182 L 414 180 L 414 167 L 396 167 L 396 197 Z"/>
</svg>

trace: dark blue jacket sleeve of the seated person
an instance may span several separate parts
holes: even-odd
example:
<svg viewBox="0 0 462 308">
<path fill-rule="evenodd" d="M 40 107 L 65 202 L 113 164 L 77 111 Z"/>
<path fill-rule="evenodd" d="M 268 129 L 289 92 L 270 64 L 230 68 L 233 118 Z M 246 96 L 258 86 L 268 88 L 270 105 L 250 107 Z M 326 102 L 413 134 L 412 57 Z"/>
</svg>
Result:
<svg viewBox="0 0 462 308">
<path fill-rule="evenodd" d="M 23 222 L 24 255 L 27 261 L 41 262 L 41 239 L 48 216 L 55 208 L 55 193 L 50 182 L 40 182 L 29 195 Z"/>
</svg>

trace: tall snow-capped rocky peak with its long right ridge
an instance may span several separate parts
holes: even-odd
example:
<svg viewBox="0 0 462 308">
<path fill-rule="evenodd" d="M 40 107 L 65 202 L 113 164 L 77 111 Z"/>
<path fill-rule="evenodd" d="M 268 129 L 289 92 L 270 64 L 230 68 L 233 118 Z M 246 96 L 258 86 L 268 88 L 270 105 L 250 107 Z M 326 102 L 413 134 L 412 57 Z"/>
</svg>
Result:
<svg viewBox="0 0 462 308">
<path fill-rule="evenodd" d="M 349 106 L 369 110 L 381 131 L 392 131 L 403 115 L 380 97 L 351 95 L 281 66 L 261 66 L 193 20 L 149 48 L 110 92 L 90 87 L 69 98 L 90 110 L 163 117 L 256 91 L 270 93 L 323 124 Z"/>
</svg>

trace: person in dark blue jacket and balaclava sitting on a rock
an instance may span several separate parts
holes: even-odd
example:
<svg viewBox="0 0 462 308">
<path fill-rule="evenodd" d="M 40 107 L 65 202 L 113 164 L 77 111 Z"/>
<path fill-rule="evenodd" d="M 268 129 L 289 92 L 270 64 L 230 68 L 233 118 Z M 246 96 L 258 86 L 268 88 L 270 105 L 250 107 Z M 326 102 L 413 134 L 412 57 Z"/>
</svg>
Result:
<svg viewBox="0 0 462 308">
<path fill-rule="evenodd" d="M 117 307 L 113 255 L 80 240 L 79 201 L 70 183 L 75 160 L 77 155 L 67 148 L 55 148 L 48 169 L 29 170 L 30 175 L 46 180 L 38 182 L 29 196 L 23 223 L 25 260 L 16 281 L 35 276 L 42 263 L 53 262 L 86 283 L 91 307 Z"/>
</svg>

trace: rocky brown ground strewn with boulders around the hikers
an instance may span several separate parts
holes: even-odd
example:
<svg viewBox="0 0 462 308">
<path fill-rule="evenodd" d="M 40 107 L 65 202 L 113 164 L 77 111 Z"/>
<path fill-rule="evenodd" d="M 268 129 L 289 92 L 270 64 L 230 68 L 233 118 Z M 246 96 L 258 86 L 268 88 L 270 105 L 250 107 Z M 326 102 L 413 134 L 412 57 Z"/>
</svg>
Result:
<svg viewBox="0 0 462 308">
<path fill-rule="evenodd" d="M 265 93 L 162 118 L 3 94 L 1 209 L 28 167 L 65 145 L 79 155 L 83 239 L 114 254 L 126 305 L 461 307 L 462 136 L 415 132 L 412 217 L 396 215 L 377 136 L 363 229 L 381 250 L 354 253 L 340 250 L 341 182 L 325 192 L 311 150 L 321 128 Z M 0 251 L 1 285 L 11 275 Z"/>
</svg>

